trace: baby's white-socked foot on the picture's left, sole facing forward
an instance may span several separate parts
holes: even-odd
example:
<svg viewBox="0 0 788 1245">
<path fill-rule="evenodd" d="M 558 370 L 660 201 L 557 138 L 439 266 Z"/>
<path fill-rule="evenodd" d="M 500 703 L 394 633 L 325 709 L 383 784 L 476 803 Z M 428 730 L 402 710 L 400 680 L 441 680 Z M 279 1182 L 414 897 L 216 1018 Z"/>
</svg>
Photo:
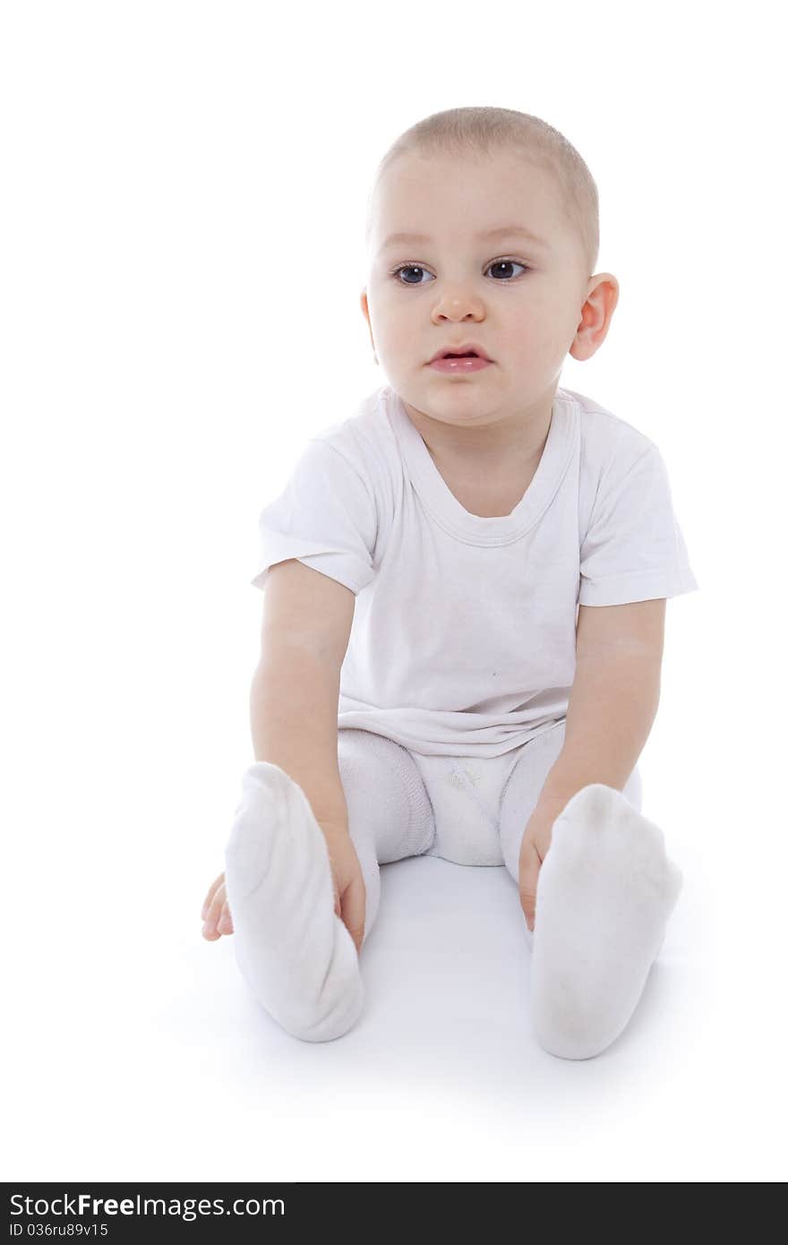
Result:
<svg viewBox="0 0 788 1245">
<path fill-rule="evenodd" d="M 238 966 L 254 997 L 307 1042 L 341 1037 L 361 1013 L 359 956 L 334 911 L 329 849 L 303 789 L 258 761 L 225 852 Z"/>
</svg>

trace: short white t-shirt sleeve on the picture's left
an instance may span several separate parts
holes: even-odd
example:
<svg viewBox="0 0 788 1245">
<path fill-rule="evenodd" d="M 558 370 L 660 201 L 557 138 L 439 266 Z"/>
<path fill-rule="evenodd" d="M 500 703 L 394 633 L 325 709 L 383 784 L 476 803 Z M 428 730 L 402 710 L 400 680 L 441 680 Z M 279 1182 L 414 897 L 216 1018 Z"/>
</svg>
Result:
<svg viewBox="0 0 788 1245">
<path fill-rule="evenodd" d="M 375 500 L 345 456 L 312 439 L 284 492 L 258 520 L 258 563 L 251 584 L 264 588 L 269 568 L 298 558 L 357 594 L 375 578 Z"/>
</svg>

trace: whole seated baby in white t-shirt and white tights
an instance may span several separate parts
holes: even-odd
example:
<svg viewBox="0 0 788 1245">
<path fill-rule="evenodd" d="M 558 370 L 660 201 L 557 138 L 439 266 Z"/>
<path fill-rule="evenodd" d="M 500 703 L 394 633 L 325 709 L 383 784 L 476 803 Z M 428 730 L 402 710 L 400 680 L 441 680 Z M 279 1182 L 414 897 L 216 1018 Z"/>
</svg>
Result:
<svg viewBox="0 0 788 1245">
<path fill-rule="evenodd" d="M 589 1058 L 682 884 L 636 762 L 666 599 L 698 586 L 656 444 L 559 386 L 619 299 L 596 186 L 538 117 L 452 108 L 383 157 L 366 244 L 387 383 L 260 514 L 256 761 L 203 935 L 234 933 L 261 1006 L 327 1041 L 362 1010 L 381 864 L 504 865 L 534 1036 Z"/>
</svg>

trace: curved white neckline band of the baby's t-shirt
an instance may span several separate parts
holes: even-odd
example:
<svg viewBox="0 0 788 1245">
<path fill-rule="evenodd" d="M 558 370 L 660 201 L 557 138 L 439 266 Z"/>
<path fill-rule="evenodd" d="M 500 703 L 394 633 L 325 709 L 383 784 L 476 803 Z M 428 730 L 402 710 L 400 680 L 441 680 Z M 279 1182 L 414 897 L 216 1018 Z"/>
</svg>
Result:
<svg viewBox="0 0 788 1245">
<path fill-rule="evenodd" d="M 579 427 L 575 400 L 565 390 L 555 391 L 548 437 L 525 493 L 510 514 L 492 517 L 466 510 L 441 476 L 418 428 L 411 423 L 400 395 L 386 385 L 381 396 L 413 488 L 424 508 L 451 534 L 478 545 L 508 543 L 533 527 L 555 497 L 571 461 Z"/>
</svg>

